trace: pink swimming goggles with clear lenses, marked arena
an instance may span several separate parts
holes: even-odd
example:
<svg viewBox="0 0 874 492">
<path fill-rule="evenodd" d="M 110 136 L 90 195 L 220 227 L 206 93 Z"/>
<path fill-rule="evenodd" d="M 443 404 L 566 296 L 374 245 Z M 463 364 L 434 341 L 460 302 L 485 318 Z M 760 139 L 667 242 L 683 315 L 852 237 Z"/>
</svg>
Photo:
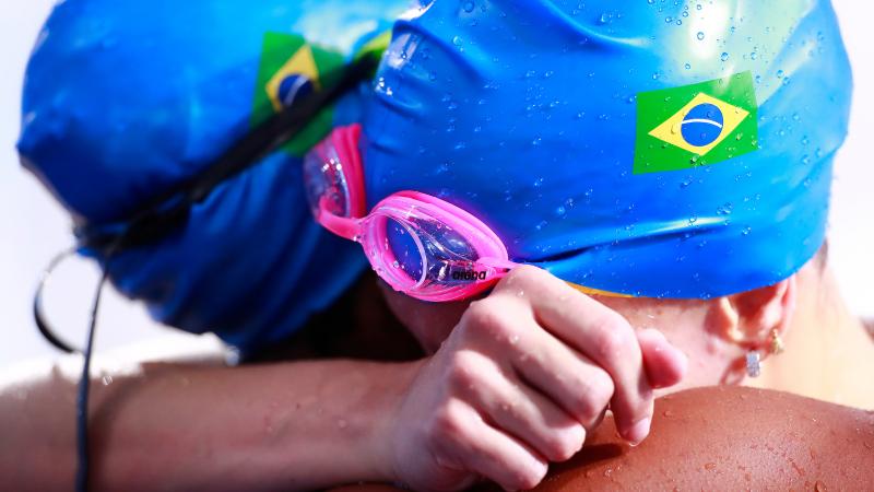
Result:
<svg viewBox="0 0 874 492">
<path fill-rule="evenodd" d="M 304 160 L 316 221 L 364 247 L 395 291 L 432 302 L 473 296 L 518 266 L 482 221 L 439 198 L 400 191 L 367 213 L 361 126 L 336 128 Z"/>
</svg>

